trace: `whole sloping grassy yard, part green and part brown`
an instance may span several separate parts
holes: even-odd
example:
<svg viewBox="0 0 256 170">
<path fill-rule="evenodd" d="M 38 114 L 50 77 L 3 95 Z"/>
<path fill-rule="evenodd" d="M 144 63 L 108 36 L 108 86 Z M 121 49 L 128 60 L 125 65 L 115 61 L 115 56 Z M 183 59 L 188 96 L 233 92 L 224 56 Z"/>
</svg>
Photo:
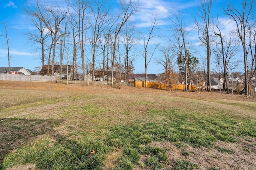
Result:
<svg viewBox="0 0 256 170">
<path fill-rule="evenodd" d="M 253 98 L 131 87 L 0 85 L 0 169 L 256 167 Z"/>
</svg>

